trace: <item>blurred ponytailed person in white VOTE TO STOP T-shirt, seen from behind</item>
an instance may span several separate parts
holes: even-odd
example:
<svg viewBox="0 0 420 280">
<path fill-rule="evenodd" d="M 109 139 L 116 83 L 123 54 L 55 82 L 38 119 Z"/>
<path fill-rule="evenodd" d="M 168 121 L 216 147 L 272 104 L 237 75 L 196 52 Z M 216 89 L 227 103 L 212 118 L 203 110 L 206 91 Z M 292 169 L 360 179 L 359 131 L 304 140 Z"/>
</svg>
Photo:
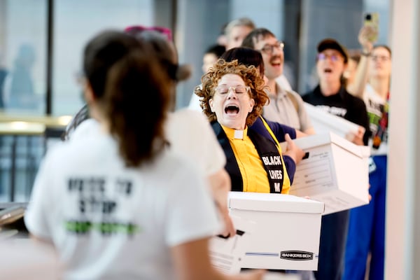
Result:
<svg viewBox="0 0 420 280">
<path fill-rule="evenodd" d="M 63 279 L 261 279 L 211 266 L 216 209 L 198 169 L 167 148 L 171 89 L 150 53 L 120 31 L 87 43 L 85 99 L 101 129 L 48 151 L 25 224 L 55 246 Z"/>
</svg>

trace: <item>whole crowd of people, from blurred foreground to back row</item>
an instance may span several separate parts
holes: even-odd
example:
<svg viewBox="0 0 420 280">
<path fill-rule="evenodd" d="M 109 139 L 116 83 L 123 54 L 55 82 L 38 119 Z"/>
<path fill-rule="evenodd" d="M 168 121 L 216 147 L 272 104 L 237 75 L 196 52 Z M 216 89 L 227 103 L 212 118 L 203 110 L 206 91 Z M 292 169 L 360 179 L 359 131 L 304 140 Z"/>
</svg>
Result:
<svg viewBox="0 0 420 280">
<path fill-rule="evenodd" d="M 383 279 L 391 50 L 367 40 L 372 32 L 360 29 L 358 59 L 321 40 L 318 85 L 301 95 L 283 76 L 283 42 L 233 20 L 225 45 L 206 50 L 202 83 L 180 110 L 176 85 L 191 69 L 179 64 L 169 29 L 100 32 L 83 53 L 86 104 L 36 176 L 29 232 L 57 249 L 64 279 L 262 279 L 262 270 L 214 268 L 209 239 L 236 234 L 229 191 L 293 188 L 304 157 L 293 139 L 316 134 L 307 102 L 360 126 L 347 139 L 371 147 L 372 200 L 323 216 L 317 271 L 288 273 L 365 279 L 370 265 L 369 279 Z"/>
</svg>

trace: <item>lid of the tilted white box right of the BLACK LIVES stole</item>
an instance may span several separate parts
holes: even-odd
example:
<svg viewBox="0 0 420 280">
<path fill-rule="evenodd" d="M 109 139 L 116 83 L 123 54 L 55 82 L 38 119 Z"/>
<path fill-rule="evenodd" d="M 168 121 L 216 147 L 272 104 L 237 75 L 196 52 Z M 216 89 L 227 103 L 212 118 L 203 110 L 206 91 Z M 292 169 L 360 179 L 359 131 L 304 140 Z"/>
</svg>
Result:
<svg viewBox="0 0 420 280">
<path fill-rule="evenodd" d="M 358 156 L 359 158 L 367 158 L 370 155 L 370 148 L 367 146 L 358 146 L 351 143 L 351 141 L 339 137 L 333 132 L 325 132 L 321 134 L 309 135 L 298 139 L 293 139 L 295 144 L 302 150 L 314 148 L 317 146 L 324 146 L 328 144 L 335 144 L 344 148 L 344 150 Z M 286 151 L 287 143 L 281 143 L 281 151 Z"/>
</svg>

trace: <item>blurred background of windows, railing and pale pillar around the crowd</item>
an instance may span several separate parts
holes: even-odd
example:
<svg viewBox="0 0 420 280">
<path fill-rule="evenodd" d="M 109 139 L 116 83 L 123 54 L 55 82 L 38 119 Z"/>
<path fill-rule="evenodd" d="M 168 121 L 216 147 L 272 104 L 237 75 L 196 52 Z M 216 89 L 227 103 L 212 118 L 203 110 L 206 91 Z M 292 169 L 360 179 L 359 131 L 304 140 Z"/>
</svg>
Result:
<svg viewBox="0 0 420 280">
<path fill-rule="evenodd" d="M 83 105 L 80 62 L 88 38 L 127 25 L 169 27 L 193 76 L 178 88 L 188 105 L 204 51 L 226 23 L 247 17 L 285 42 L 284 73 L 303 94 L 316 44 L 359 48 L 365 13 L 379 13 L 379 38 L 393 48 L 388 156 L 386 279 L 419 279 L 420 3 L 416 0 L 0 0 L 0 209 L 29 200 L 48 146 Z M 395 71 L 395 69 L 397 71 Z M 139 107 L 146 109 L 146 104 Z M 13 202 L 13 203 L 12 203 Z"/>
</svg>

